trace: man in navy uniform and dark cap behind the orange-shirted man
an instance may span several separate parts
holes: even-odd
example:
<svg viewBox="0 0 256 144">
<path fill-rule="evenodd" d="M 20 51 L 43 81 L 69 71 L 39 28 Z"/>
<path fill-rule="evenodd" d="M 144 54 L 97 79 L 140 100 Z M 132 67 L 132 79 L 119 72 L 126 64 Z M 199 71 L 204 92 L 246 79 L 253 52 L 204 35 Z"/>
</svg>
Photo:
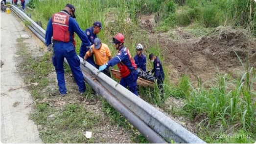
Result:
<svg viewBox="0 0 256 144">
<path fill-rule="evenodd" d="M 92 45 L 94 44 L 94 40 L 97 38 L 97 34 L 100 32 L 101 29 L 102 29 L 101 22 L 95 21 L 93 23 L 92 27 L 85 30 L 86 36 Z M 81 47 L 80 47 L 80 53 L 79 53 L 79 56 L 81 58 L 84 58 L 86 52 L 89 50 L 86 46 L 87 45 L 82 42 Z M 96 67 L 94 59 L 93 59 L 93 54 L 90 57 L 88 57 L 86 59 L 86 61 L 89 62 L 90 64 L 92 64 L 94 67 Z"/>
</svg>

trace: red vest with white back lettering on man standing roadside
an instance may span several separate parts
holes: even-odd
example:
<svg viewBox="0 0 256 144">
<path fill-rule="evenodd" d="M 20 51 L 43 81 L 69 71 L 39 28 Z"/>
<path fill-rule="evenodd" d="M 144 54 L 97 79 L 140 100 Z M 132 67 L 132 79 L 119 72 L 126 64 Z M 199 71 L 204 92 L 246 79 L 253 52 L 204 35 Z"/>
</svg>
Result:
<svg viewBox="0 0 256 144">
<path fill-rule="evenodd" d="M 53 40 L 63 42 L 70 41 L 69 19 L 70 15 L 62 12 L 58 12 L 51 17 Z"/>
</svg>

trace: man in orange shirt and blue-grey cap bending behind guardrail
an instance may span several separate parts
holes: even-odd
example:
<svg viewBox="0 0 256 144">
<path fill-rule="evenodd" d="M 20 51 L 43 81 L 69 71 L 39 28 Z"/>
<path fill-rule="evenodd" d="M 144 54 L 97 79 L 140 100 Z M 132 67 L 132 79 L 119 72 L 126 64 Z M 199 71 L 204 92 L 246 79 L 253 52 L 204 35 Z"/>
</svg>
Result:
<svg viewBox="0 0 256 144">
<path fill-rule="evenodd" d="M 91 50 L 87 51 L 84 60 L 87 60 L 92 54 L 94 54 L 97 69 L 99 69 L 100 65 L 103 65 L 112 59 L 108 45 L 102 43 L 98 38 L 94 40 L 93 52 L 91 52 Z M 104 69 L 103 73 L 111 78 L 109 68 Z"/>
</svg>

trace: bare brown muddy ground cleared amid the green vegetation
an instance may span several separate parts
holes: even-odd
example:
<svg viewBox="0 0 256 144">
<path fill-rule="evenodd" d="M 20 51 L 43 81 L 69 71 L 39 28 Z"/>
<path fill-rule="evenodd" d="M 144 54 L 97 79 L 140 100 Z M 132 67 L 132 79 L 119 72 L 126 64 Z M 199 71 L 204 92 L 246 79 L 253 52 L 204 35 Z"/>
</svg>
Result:
<svg viewBox="0 0 256 144">
<path fill-rule="evenodd" d="M 180 40 L 174 41 L 170 32 L 154 32 L 154 25 L 153 15 L 142 17 L 141 28 L 148 31 L 150 43 L 159 42 L 163 50 L 163 66 L 167 67 L 169 80 L 174 83 L 183 74 L 192 81 L 200 78 L 207 82 L 216 76 L 218 70 L 236 77 L 237 69 L 242 70 L 242 66 L 234 50 L 244 63 L 249 53 L 250 65 L 255 66 L 256 40 L 249 41 L 245 30 L 218 27 L 208 36 L 194 37 L 183 28 L 177 28 L 174 33 Z"/>
</svg>

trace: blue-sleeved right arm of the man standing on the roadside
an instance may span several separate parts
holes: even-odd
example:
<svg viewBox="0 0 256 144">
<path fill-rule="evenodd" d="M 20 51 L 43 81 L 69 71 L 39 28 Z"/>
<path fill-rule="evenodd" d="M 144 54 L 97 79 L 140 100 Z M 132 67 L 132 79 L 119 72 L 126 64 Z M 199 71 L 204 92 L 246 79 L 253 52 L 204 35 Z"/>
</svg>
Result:
<svg viewBox="0 0 256 144">
<path fill-rule="evenodd" d="M 70 22 L 70 27 L 72 27 L 72 30 L 78 35 L 81 41 L 84 42 L 87 46 L 91 46 L 91 42 L 88 40 L 84 31 L 81 30 L 78 23 L 72 17 L 70 17 L 69 22 Z"/>
</svg>

